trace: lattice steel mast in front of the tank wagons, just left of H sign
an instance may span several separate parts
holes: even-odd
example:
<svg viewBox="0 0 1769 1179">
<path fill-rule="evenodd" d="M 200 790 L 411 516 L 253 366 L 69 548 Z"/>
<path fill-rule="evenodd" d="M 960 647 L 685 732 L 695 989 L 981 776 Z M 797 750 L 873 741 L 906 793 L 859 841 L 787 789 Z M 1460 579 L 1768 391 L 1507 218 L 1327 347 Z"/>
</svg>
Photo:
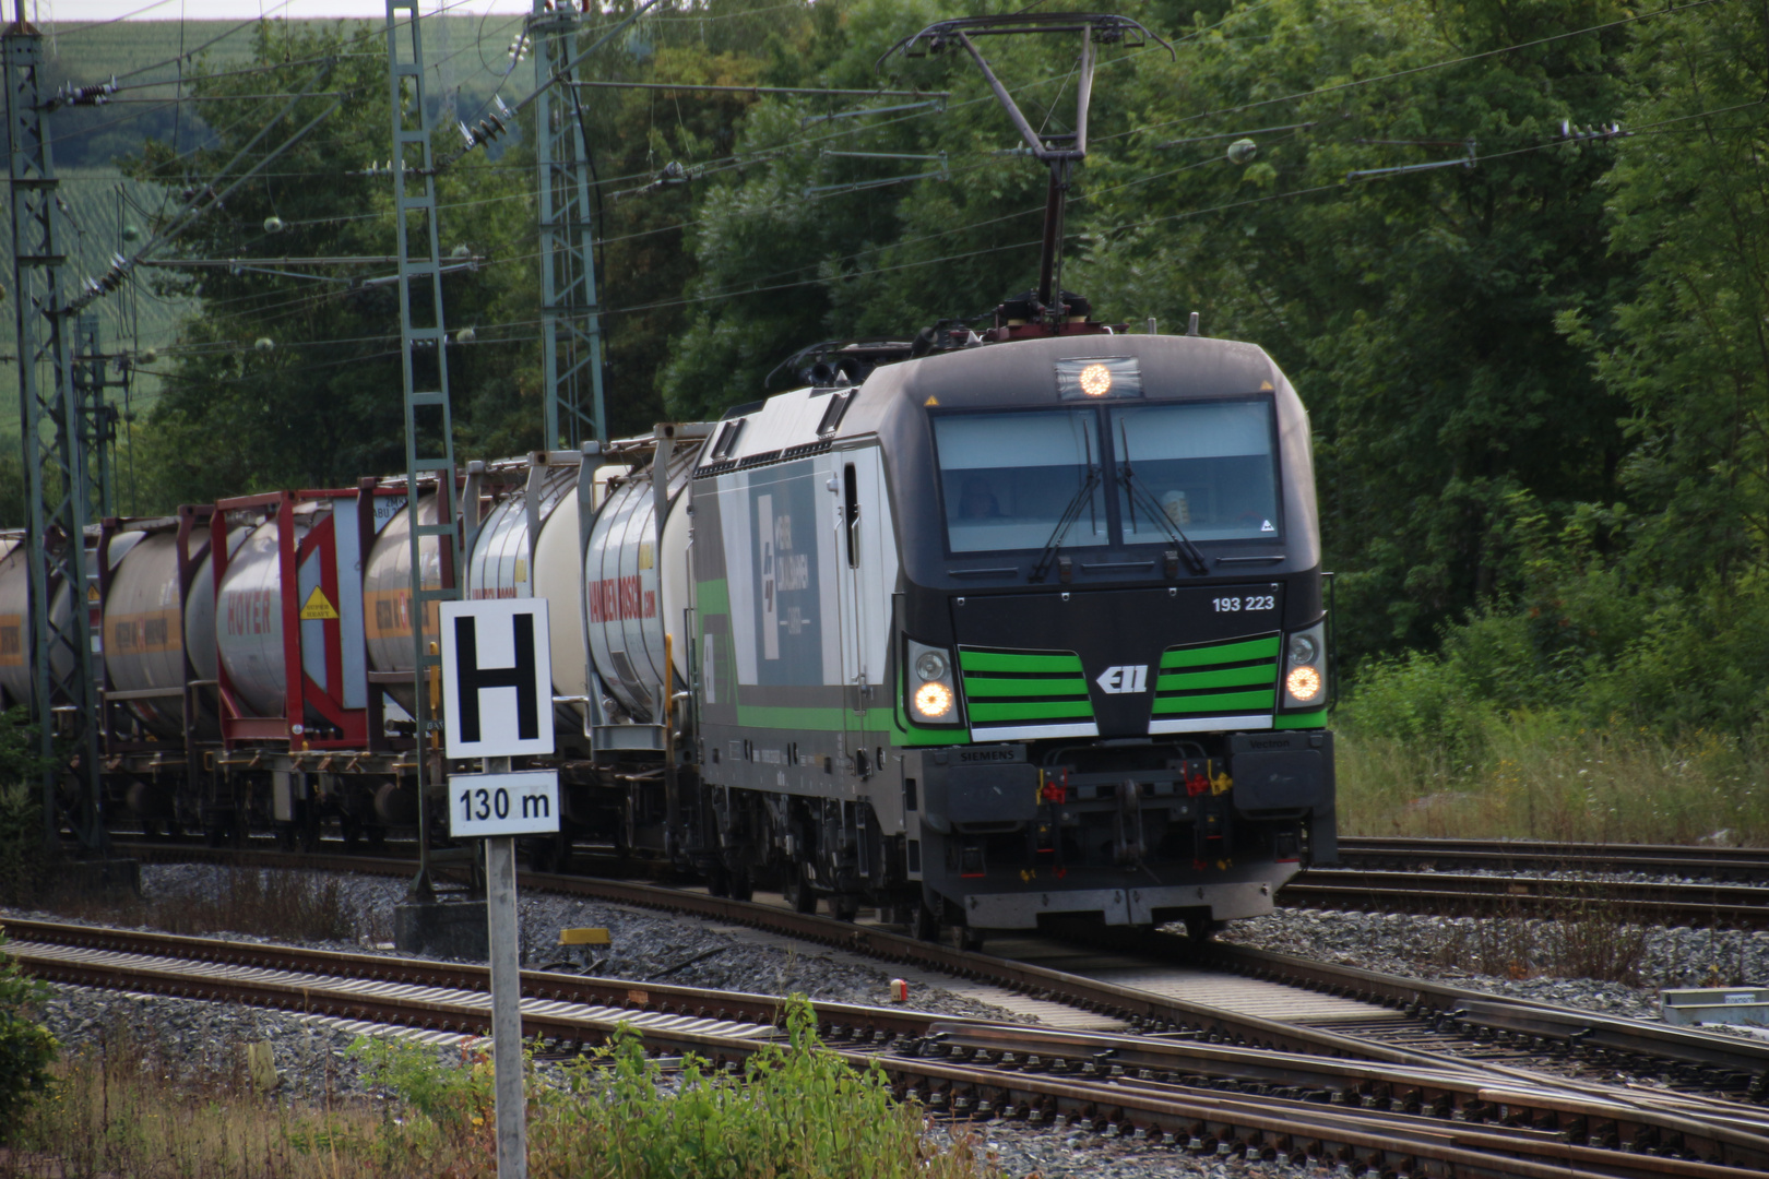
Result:
<svg viewBox="0 0 1769 1179">
<path fill-rule="evenodd" d="M 425 101 L 425 51 L 419 0 L 387 0 L 387 85 L 393 106 L 393 209 L 400 242 L 400 359 L 405 369 L 405 511 L 410 527 L 412 698 L 417 739 L 417 875 L 412 893 L 430 886 L 430 787 L 442 776 L 442 741 L 430 707 L 430 670 L 442 659 L 432 650 L 432 603 L 460 596 L 462 567 L 455 529 L 455 422 L 448 396 L 448 327 L 442 318 L 442 246 L 437 235 L 435 120 Z M 407 95 L 407 85 L 410 83 Z M 416 189 L 416 194 L 414 194 Z M 416 224 L 414 224 L 416 223 Z M 417 249 L 412 249 L 412 235 Z M 428 306 L 423 293 L 428 290 Z M 417 313 L 414 315 L 414 304 Z M 417 516 L 419 479 L 437 483 L 437 518 Z M 442 566 L 439 589 L 425 587 L 423 543 L 435 537 Z"/>
</svg>

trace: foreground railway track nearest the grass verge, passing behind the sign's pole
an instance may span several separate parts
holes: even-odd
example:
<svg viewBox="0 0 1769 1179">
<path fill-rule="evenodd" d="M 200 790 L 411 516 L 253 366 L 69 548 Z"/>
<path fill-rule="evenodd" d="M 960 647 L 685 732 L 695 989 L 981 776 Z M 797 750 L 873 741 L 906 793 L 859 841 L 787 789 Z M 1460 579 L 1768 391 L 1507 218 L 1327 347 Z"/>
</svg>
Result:
<svg viewBox="0 0 1769 1179">
<path fill-rule="evenodd" d="M 9 949 L 60 983 L 483 1032 L 474 965 L 9 921 Z M 524 1032 L 575 1052 L 628 1023 L 658 1053 L 734 1066 L 780 1038 L 780 1000 L 524 972 Z M 1769 1115 L 1673 1094 L 1569 1091 L 1449 1066 L 1394 1066 L 1090 1036 L 892 1008 L 814 1004 L 831 1050 L 902 1099 L 1245 1160 L 1410 1175 L 1725 1179 L 1769 1170 Z"/>
</svg>

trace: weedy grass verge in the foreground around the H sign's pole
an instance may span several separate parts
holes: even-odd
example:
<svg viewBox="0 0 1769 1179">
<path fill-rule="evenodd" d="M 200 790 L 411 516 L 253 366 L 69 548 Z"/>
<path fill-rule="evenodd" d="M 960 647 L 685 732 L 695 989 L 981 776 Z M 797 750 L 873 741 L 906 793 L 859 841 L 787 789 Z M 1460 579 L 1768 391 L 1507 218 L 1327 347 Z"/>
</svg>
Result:
<svg viewBox="0 0 1769 1179">
<path fill-rule="evenodd" d="M 810 1006 L 741 1071 L 665 1068 L 621 1029 L 593 1057 L 529 1073 L 534 1179 L 991 1179 L 975 1142 L 936 1149 L 922 1114 L 817 1043 Z M 492 1069 L 409 1041 L 359 1041 L 373 1098 L 322 1107 L 253 1087 L 244 1053 L 186 1084 L 127 1025 L 58 1069 L 18 1122 L 0 1179 L 490 1179 Z"/>
</svg>

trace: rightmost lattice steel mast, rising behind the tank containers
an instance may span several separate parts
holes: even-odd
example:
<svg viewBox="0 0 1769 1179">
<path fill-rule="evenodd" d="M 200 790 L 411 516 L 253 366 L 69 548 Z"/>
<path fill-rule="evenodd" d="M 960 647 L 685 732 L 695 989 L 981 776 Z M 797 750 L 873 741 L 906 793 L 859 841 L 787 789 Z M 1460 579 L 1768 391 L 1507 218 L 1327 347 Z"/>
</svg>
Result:
<svg viewBox="0 0 1769 1179">
<path fill-rule="evenodd" d="M 545 449 L 609 440 L 601 401 L 601 308 L 589 221 L 589 145 L 578 118 L 570 4 L 534 0 L 534 159 L 540 168 Z M 559 76 L 555 76 L 559 71 Z"/>
</svg>

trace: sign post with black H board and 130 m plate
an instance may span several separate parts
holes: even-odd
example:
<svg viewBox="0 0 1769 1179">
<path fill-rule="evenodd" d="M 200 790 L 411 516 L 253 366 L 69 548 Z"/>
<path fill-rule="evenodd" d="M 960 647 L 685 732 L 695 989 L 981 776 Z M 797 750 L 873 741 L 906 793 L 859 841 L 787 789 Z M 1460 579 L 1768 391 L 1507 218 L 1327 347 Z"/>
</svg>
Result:
<svg viewBox="0 0 1769 1179">
<path fill-rule="evenodd" d="M 446 601 L 440 622 L 444 751 L 481 769 L 449 778 L 448 815 L 453 838 L 485 840 L 497 1179 L 527 1179 L 517 836 L 559 831 L 559 772 L 511 771 L 509 758 L 554 751 L 547 599 Z"/>
</svg>

